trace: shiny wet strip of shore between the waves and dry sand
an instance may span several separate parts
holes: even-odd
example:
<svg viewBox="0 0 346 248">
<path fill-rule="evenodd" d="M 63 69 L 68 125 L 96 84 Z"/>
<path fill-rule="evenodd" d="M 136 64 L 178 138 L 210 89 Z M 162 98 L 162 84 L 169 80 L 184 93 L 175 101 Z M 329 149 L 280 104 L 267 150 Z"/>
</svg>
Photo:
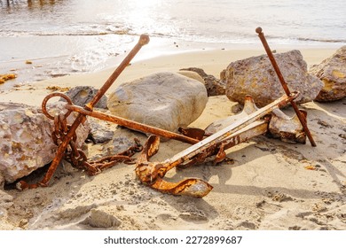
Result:
<svg viewBox="0 0 346 248">
<path fill-rule="evenodd" d="M 254 34 L 256 38 L 256 35 Z M 98 40 L 99 39 L 99 40 Z M 178 38 L 150 37 L 151 41 L 139 51 L 132 63 L 189 52 L 208 50 L 263 50 L 262 43 L 206 43 Z M 0 38 L 7 48 L 0 60 L 0 74 L 17 74 L 17 79 L 0 85 L 1 90 L 28 85 L 65 75 L 92 74 L 120 64 L 138 35 L 97 36 L 19 36 Z M 271 41 L 269 41 L 271 42 Z M 54 47 L 51 47 L 51 44 Z M 334 49 L 346 43 L 272 43 L 272 50 Z M 22 47 L 24 50 L 18 50 Z M 37 49 L 40 47 L 40 49 Z M 264 50 L 263 50 L 264 53 Z M 27 64 L 29 61 L 32 64 Z"/>
</svg>

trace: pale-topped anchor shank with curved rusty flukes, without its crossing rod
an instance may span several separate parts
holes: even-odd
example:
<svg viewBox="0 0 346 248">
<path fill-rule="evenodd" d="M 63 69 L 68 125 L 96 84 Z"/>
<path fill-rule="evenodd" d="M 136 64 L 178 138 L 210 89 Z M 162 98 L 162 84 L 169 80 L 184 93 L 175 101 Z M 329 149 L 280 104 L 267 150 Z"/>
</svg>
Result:
<svg viewBox="0 0 346 248">
<path fill-rule="evenodd" d="M 206 196 L 213 188 L 208 182 L 195 178 L 185 179 L 181 182 L 166 182 L 163 177 L 174 167 L 186 164 L 194 165 L 196 162 L 203 161 L 211 155 L 216 155 L 216 161 L 222 161 L 225 158 L 225 149 L 247 141 L 254 136 L 264 134 L 268 128 L 268 120 L 263 119 L 263 117 L 273 110 L 287 105 L 297 96 L 298 93 L 295 92 L 290 97 L 280 97 L 270 105 L 249 113 L 246 118 L 235 121 L 230 126 L 216 132 L 216 134 L 208 136 L 201 142 L 163 162 L 149 161 L 153 154 L 159 150 L 160 144 L 157 136 L 150 136 L 137 162 L 136 174 L 138 179 L 161 192 L 194 198 Z M 256 122 L 256 120 L 259 121 Z"/>
</svg>

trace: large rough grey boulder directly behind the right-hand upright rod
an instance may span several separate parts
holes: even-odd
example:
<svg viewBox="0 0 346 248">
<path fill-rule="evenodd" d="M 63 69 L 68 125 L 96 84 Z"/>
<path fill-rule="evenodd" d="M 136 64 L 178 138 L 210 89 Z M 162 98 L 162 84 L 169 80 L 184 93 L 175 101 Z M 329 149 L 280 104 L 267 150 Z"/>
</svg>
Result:
<svg viewBox="0 0 346 248">
<path fill-rule="evenodd" d="M 288 88 L 301 93 L 296 103 L 315 99 L 323 83 L 308 74 L 301 52 L 290 50 L 274 56 Z M 263 107 L 285 94 L 267 55 L 232 62 L 226 69 L 226 80 L 226 96 L 241 105 L 246 95 L 252 96 L 258 107 Z"/>
</svg>

